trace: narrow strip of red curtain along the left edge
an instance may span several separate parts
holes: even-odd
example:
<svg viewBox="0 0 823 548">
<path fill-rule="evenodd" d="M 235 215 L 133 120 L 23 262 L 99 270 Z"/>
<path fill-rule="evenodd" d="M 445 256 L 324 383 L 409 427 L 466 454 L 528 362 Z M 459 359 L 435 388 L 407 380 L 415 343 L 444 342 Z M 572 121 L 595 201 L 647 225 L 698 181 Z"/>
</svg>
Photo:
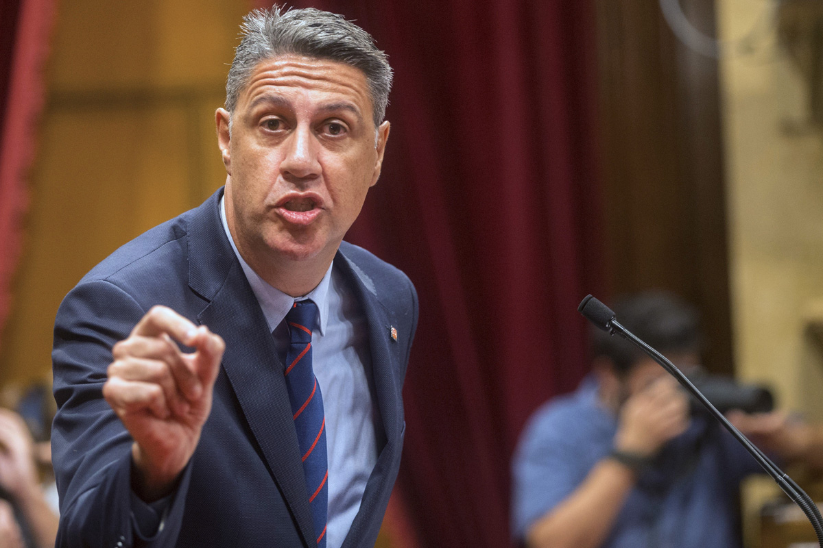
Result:
<svg viewBox="0 0 823 548">
<path fill-rule="evenodd" d="M 21 252 L 26 172 L 34 159 L 35 122 L 43 106 L 41 70 L 55 0 L 0 2 L 0 331 L 11 306 Z"/>
</svg>

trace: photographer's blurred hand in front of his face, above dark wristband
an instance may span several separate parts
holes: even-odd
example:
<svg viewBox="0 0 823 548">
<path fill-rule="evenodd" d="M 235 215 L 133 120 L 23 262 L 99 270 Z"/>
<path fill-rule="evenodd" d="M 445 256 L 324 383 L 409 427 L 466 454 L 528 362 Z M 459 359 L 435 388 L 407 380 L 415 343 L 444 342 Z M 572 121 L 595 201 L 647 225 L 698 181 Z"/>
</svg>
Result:
<svg viewBox="0 0 823 548">
<path fill-rule="evenodd" d="M 623 404 L 615 449 L 651 457 L 668 440 L 686 431 L 689 421 L 686 394 L 675 380 L 662 377 Z"/>
</svg>

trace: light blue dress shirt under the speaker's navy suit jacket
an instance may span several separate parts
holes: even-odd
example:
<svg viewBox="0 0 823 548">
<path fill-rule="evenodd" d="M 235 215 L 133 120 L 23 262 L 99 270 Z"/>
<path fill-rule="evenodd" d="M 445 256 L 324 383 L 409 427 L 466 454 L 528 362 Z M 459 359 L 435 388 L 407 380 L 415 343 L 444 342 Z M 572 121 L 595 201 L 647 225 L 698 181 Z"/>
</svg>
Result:
<svg viewBox="0 0 823 548">
<path fill-rule="evenodd" d="M 309 298 L 319 310 L 312 333 L 312 366 L 323 394 L 328 448 L 328 548 L 342 546 L 360 509 L 365 484 L 377 463 L 378 437 L 384 434 L 374 398 L 369 329 L 356 296 L 342 274 L 329 265 L 319 285 L 304 297 L 273 288 L 243 260 L 226 223 L 225 198 L 220 217 L 231 248 L 274 334 L 280 362 L 286 359 L 288 331 L 283 320 L 296 300 Z"/>
</svg>

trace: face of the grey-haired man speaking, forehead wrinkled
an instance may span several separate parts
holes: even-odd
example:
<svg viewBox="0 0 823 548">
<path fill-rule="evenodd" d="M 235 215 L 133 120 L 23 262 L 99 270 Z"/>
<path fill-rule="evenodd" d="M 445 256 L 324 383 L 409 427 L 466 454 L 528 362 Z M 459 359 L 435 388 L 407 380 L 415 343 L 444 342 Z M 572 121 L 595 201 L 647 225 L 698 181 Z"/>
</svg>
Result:
<svg viewBox="0 0 823 548">
<path fill-rule="evenodd" d="M 291 261 L 328 268 L 377 182 L 388 122 L 375 127 L 369 85 L 340 62 L 260 62 L 232 114 L 217 111 L 229 177 L 226 218 L 258 274 Z"/>
</svg>

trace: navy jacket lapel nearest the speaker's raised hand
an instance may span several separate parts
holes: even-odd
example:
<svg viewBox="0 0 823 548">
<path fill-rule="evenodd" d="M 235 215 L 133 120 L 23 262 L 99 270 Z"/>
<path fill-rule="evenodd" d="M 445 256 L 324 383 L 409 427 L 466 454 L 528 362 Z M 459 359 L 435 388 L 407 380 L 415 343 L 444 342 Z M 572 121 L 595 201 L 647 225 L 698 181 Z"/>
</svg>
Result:
<svg viewBox="0 0 823 548">
<path fill-rule="evenodd" d="M 188 230 L 189 283 L 210 301 L 198 320 L 225 339 L 226 377 L 306 546 L 315 546 L 283 366 L 263 311 L 223 230 L 219 196 L 212 196 L 203 207 L 212 201 L 212 208 L 195 217 Z"/>
</svg>

